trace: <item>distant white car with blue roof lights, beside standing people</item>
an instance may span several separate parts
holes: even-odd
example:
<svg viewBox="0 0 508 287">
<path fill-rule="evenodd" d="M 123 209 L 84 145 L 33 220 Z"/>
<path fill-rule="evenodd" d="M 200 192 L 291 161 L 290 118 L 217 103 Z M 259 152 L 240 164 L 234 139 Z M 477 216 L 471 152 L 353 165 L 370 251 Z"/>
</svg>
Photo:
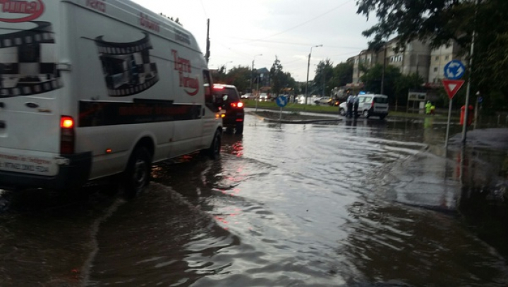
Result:
<svg viewBox="0 0 508 287">
<path fill-rule="evenodd" d="M 384 119 L 388 115 L 388 97 L 384 94 L 360 94 L 358 95 L 358 116 L 365 118 L 379 116 Z M 342 102 L 339 105 L 339 114 L 346 116 L 347 104 Z"/>
</svg>

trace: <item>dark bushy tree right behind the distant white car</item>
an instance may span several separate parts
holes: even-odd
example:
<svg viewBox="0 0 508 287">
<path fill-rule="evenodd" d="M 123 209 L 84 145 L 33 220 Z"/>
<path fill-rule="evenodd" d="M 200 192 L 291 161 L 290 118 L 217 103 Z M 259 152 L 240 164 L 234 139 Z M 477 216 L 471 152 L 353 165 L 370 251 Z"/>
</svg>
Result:
<svg viewBox="0 0 508 287">
<path fill-rule="evenodd" d="M 366 71 L 365 74 L 361 76 L 361 81 L 365 85 L 365 91 L 376 94 L 381 92 L 382 68 L 381 64 L 376 64 L 373 68 L 370 68 L 370 70 Z M 401 73 L 399 68 L 386 66 L 383 94 L 386 94 L 392 103 L 396 99 L 396 83 L 399 81 L 400 77 Z"/>
</svg>

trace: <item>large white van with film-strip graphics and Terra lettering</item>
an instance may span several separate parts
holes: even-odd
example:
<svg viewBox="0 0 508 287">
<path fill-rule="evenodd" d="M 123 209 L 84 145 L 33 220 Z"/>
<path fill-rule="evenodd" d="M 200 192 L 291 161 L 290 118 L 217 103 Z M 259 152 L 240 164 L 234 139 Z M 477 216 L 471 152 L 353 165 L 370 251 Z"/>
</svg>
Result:
<svg viewBox="0 0 508 287">
<path fill-rule="evenodd" d="M 220 152 L 222 104 L 193 35 L 128 0 L 0 1 L 0 188 L 67 190 Z"/>
</svg>

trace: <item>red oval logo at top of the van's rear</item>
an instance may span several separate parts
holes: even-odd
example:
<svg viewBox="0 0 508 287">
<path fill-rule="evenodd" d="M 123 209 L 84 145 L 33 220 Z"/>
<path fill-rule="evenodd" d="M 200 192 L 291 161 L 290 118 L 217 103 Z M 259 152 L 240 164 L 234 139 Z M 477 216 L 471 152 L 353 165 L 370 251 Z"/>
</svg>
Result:
<svg viewBox="0 0 508 287">
<path fill-rule="evenodd" d="M 20 23 L 39 18 L 44 13 L 42 0 L 0 0 L 1 22 Z"/>
</svg>

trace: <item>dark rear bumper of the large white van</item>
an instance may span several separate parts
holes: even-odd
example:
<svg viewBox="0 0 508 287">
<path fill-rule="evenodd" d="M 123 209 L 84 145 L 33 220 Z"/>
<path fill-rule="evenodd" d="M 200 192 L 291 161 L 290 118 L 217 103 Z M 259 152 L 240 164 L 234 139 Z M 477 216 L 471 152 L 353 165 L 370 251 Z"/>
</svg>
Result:
<svg viewBox="0 0 508 287">
<path fill-rule="evenodd" d="M 69 164 L 60 166 L 56 176 L 38 176 L 28 173 L 0 171 L 0 188 L 64 190 L 78 188 L 88 181 L 90 169 L 92 168 L 92 152 L 61 157 L 68 159 Z"/>
</svg>

